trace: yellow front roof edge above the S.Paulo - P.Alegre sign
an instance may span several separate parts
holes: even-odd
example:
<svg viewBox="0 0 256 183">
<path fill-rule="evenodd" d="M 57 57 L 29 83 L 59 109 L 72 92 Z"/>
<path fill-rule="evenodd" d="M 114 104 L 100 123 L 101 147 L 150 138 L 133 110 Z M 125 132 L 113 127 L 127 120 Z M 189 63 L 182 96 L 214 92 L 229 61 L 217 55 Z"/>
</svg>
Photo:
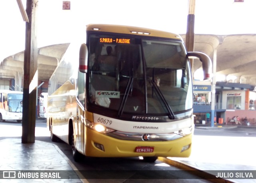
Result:
<svg viewBox="0 0 256 183">
<path fill-rule="evenodd" d="M 148 28 L 139 28 L 133 26 L 121 26 L 121 25 L 108 25 L 108 24 L 88 24 L 86 27 L 87 31 L 102 31 L 102 32 L 114 32 L 114 33 L 125 33 L 125 34 L 139 34 L 144 36 L 154 36 L 154 37 L 165 37 L 178 39 L 182 41 L 180 35 L 175 33 L 170 33 L 166 31 L 153 30 Z"/>
</svg>

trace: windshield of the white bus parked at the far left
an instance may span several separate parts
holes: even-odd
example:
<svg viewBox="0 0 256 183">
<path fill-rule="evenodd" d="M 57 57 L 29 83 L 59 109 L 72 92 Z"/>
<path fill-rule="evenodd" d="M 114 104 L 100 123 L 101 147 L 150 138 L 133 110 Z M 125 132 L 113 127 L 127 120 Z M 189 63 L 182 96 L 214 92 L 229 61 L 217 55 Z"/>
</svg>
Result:
<svg viewBox="0 0 256 183">
<path fill-rule="evenodd" d="M 8 94 L 9 112 L 22 112 L 23 94 Z"/>
</svg>

